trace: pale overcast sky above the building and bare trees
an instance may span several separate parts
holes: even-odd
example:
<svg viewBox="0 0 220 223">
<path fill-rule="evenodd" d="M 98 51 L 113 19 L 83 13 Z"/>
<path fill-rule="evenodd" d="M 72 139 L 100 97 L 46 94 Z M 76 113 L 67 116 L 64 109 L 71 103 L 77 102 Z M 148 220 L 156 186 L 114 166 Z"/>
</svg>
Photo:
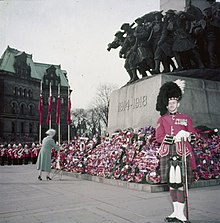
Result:
<svg viewBox="0 0 220 223">
<path fill-rule="evenodd" d="M 103 83 L 129 80 L 119 49 L 107 44 L 159 0 L 0 0 L 0 54 L 7 46 L 33 55 L 34 62 L 66 70 L 72 108 L 88 108 Z"/>
</svg>

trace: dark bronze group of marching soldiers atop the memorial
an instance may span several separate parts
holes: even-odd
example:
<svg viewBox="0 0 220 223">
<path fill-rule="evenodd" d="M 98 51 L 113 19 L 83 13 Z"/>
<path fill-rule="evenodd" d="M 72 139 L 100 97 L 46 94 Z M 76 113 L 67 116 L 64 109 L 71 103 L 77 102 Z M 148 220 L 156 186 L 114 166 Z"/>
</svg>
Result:
<svg viewBox="0 0 220 223">
<path fill-rule="evenodd" d="M 122 24 L 107 50 L 120 47 L 128 83 L 139 79 L 138 72 L 146 77 L 220 66 L 220 3 L 207 1 L 210 7 L 203 11 L 193 5 L 185 11 L 153 11 Z"/>
</svg>

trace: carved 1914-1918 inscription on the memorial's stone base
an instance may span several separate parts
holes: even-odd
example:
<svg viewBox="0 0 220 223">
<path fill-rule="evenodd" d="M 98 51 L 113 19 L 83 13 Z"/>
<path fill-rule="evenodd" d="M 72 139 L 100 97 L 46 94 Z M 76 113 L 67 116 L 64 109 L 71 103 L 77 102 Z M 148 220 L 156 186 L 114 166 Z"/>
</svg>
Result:
<svg viewBox="0 0 220 223">
<path fill-rule="evenodd" d="M 118 112 L 140 109 L 147 105 L 147 96 L 131 98 L 118 103 Z"/>
</svg>

